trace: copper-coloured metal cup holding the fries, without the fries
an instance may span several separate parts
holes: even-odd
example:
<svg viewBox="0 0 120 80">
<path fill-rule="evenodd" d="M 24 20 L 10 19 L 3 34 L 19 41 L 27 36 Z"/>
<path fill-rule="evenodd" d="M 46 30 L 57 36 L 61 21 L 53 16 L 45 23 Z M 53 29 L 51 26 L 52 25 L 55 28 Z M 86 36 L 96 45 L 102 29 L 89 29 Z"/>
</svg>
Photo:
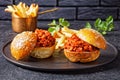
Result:
<svg viewBox="0 0 120 80">
<path fill-rule="evenodd" d="M 37 17 L 20 18 L 12 15 L 12 29 L 14 32 L 34 31 L 37 27 Z"/>
</svg>

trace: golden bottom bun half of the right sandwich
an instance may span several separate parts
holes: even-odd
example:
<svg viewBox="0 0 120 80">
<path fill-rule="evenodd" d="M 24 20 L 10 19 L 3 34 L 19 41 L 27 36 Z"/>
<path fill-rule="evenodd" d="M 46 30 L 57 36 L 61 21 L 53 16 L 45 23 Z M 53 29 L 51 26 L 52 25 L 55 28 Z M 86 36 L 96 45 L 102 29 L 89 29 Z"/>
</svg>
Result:
<svg viewBox="0 0 120 80">
<path fill-rule="evenodd" d="M 93 52 L 71 52 L 65 49 L 64 54 L 71 62 L 86 63 L 95 61 L 100 56 L 100 50 Z"/>
</svg>

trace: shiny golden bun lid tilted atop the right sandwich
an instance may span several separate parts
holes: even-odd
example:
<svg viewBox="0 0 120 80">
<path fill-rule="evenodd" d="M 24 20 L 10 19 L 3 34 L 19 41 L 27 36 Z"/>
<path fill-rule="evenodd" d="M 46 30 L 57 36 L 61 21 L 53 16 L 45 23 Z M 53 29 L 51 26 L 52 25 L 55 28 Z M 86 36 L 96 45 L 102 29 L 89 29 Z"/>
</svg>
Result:
<svg viewBox="0 0 120 80">
<path fill-rule="evenodd" d="M 80 31 L 77 33 L 77 36 L 97 48 L 106 49 L 106 40 L 104 39 L 102 34 L 94 29 L 80 29 Z"/>
</svg>

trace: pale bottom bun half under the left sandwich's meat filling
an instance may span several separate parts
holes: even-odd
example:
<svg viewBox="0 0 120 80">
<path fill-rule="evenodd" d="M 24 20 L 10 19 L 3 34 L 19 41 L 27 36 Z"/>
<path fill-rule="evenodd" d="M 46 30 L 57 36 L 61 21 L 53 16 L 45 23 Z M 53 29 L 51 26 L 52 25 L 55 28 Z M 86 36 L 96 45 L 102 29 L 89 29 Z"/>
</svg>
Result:
<svg viewBox="0 0 120 80">
<path fill-rule="evenodd" d="M 31 56 L 34 58 L 48 58 L 52 56 L 55 50 L 55 45 L 51 47 L 37 47 L 31 52 Z"/>
</svg>

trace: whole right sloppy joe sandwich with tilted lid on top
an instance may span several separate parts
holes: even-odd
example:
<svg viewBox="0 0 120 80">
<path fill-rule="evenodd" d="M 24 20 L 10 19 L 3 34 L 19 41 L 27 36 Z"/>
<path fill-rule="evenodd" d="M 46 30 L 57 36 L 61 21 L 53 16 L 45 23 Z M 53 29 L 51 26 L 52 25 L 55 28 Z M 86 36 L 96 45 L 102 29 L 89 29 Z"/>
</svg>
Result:
<svg viewBox="0 0 120 80">
<path fill-rule="evenodd" d="M 106 49 L 105 38 L 96 30 L 83 28 L 64 44 L 64 54 L 71 62 L 91 62 L 99 58 L 100 49 Z"/>
</svg>

